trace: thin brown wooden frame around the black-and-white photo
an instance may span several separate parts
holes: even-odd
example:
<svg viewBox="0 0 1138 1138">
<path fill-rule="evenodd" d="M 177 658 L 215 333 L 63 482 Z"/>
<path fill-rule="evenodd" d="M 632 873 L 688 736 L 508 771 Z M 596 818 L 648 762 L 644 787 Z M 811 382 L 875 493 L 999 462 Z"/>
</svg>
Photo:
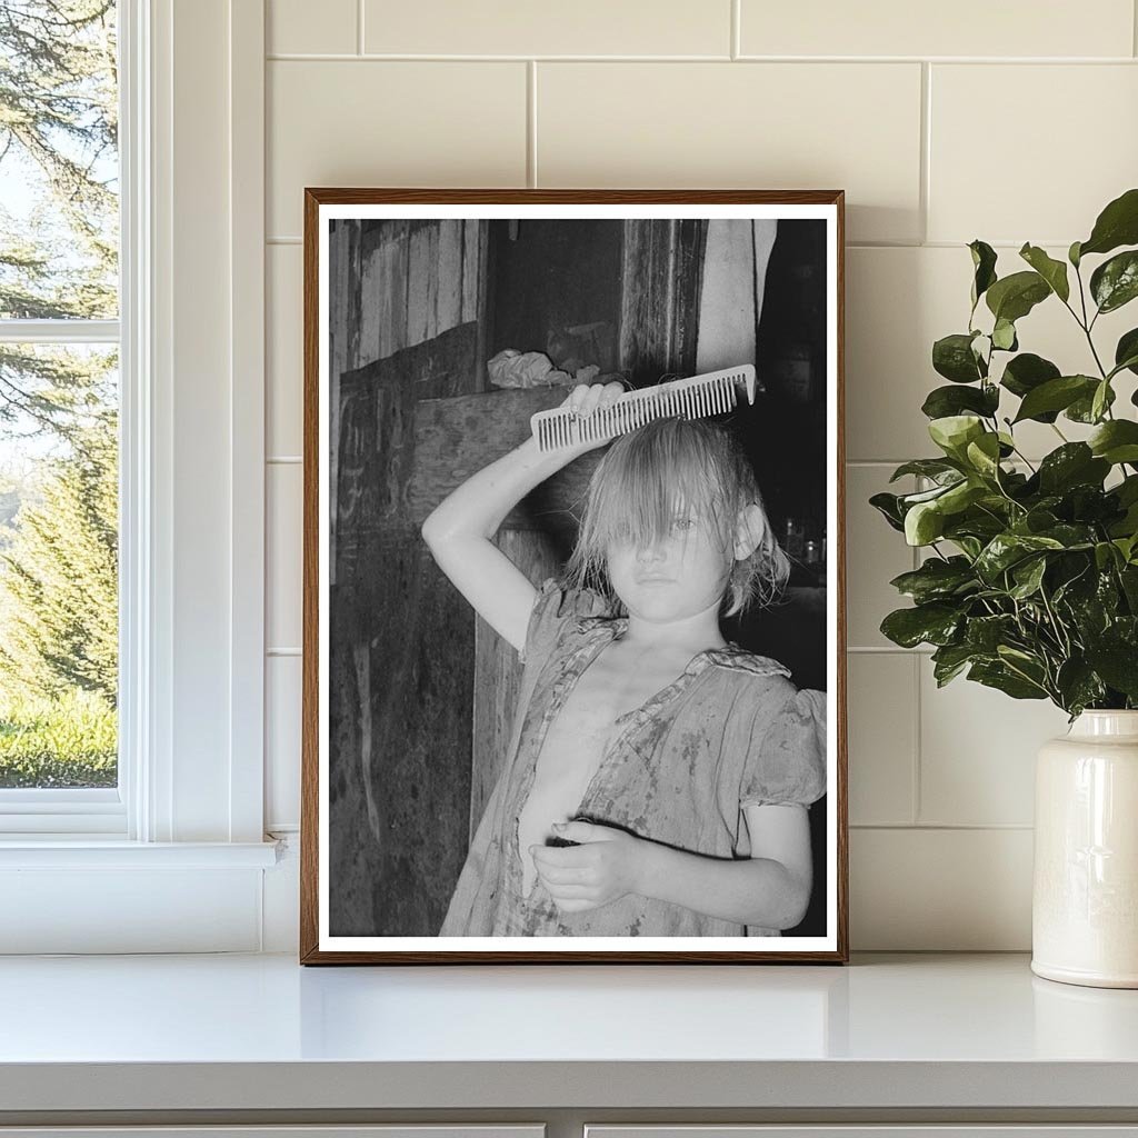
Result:
<svg viewBox="0 0 1138 1138">
<path fill-rule="evenodd" d="M 838 783 L 831 787 L 831 808 L 838 809 L 838 849 L 835 857 L 838 927 L 834 951 L 777 953 L 777 951 L 328 951 L 319 947 L 319 222 L 322 205 L 833 205 L 836 213 L 836 289 L 832 297 L 836 304 L 836 382 L 838 422 L 838 533 L 830 541 L 831 555 L 838 558 L 838 692 L 834 693 L 835 723 L 830 729 L 838 731 Z M 844 963 L 849 955 L 848 940 L 848 827 L 847 827 L 847 739 L 846 739 L 846 533 L 844 533 L 844 192 L 841 190 L 503 190 L 494 188 L 438 190 L 421 188 L 308 188 L 305 190 L 304 225 L 304 537 L 303 537 L 303 715 L 302 715 L 302 866 L 300 866 L 300 938 L 299 959 L 304 964 L 443 964 L 443 963 L 519 963 L 547 964 L 566 963 L 784 963 L 803 962 Z M 479 236 L 477 222 L 462 226 L 461 264 L 463 265 L 462 290 L 459 298 L 460 315 L 469 320 L 472 310 L 480 310 L 485 298 L 472 291 L 472 277 L 465 266 L 472 256 L 485 256 L 484 237 Z M 439 236 L 434 249 L 419 249 L 420 257 L 434 256 L 436 262 L 455 256 L 456 240 L 453 233 Z M 394 272 L 385 265 L 379 273 L 391 280 Z M 417 294 L 418 303 L 418 294 Z M 434 294 L 424 292 L 417 321 L 423 330 L 438 328 L 440 316 L 453 319 L 455 298 L 450 292 L 439 295 L 436 284 Z M 389 311 L 389 310 L 388 310 Z M 411 305 L 406 311 L 411 312 Z M 444 315 L 445 314 L 445 315 Z M 480 312 L 479 312 L 480 315 Z M 381 318 L 382 319 L 382 318 Z M 479 319 L 479 327 L 483 321 Z M 679 340 L 686 339 L 686 330 Z M 485 355 L 485 353 L 481 353 Z M 834 791 L 836 790 L 836 793 Z"/>
</svg>

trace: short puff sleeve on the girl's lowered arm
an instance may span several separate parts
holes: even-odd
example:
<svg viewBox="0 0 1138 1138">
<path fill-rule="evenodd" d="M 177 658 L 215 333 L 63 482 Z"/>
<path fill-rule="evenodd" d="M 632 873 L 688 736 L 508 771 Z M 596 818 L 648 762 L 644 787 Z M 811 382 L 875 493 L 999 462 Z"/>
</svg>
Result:
<svg viewBox="0 0 1138 1138">
<path fill-rule="evenodd" d="M 751 727 L 739 803 L 809 806 L 826 793 L 826 693 L 795 691 Z"/>
</svg>

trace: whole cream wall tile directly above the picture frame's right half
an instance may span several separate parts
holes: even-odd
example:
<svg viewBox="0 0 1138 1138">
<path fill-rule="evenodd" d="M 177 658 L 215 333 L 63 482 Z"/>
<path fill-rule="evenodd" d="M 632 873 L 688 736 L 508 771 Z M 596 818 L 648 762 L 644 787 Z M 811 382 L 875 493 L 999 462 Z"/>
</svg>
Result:
<svg viewBox="0 0 1138 1138">
<path fill-rule="evenodd" d="M 920 64 L 537 65 L 538 185 L 842 188 L 855 241 L 921 236 Z"/>
</svg>

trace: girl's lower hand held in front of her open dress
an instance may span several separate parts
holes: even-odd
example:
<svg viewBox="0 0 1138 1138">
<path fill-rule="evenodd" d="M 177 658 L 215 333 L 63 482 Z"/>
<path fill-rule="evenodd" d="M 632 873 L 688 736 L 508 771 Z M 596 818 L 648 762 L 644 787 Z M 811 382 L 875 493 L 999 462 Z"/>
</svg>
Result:
<svg viewBox="0 0 1138 1138">
<path fill-rule="evenodd" d="M 580 844 L 530 846 L 529 852 L 542 884 L 563 913 L 595 909 L 625 893 L 640 892 L 642 839 L 592 822 L 567 822 L 553 831 Z"/>
</svg>

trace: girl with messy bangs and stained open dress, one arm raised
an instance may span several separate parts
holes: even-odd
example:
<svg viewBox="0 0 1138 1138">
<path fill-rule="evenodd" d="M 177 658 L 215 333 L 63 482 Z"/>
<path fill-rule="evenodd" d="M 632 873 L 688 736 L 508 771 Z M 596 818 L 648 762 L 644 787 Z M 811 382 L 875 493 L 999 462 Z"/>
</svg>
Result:
<svg viewBox="0 0 1138 1138">
<path fill-rule="evenodd" d="M 588 415 L 621 390 L 579 386 L 564 405 Z M 789 572 L 747 459 L 707 421 L 658 420 L 601 459 L 562 580 L 535 589 L 490 541 L 604 442 L 527 439 L 423 523 L 525 665 L 439 935 L 777 937 L 810 897 L 825 698 L 719 630 L 720 611 L 770 601 Z"/>
</svg>

